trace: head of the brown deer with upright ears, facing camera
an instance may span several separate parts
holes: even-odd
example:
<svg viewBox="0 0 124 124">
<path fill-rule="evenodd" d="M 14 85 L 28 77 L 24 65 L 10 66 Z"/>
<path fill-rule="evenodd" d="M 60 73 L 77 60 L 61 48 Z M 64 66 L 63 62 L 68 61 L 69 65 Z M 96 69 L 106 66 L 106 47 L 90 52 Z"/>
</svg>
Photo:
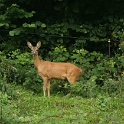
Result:
<svg viewBox="0 0 124 124">
<path fill-rule="evenodd" d="M 32 46 L 32 44 L 28 41 L 28 42 L 27 42 L 27 45 L 28 45 L 28 47 L 31 49 L 32 55 L 35 56 L 35 55 L 38 54 L 38 49 L 39 49 L 40 46 L 41 46 L 41 42 L 39 41 L 39 42 L 37 43 L 37 45 L 34 47 L 34 46 Z"/>
</svg>

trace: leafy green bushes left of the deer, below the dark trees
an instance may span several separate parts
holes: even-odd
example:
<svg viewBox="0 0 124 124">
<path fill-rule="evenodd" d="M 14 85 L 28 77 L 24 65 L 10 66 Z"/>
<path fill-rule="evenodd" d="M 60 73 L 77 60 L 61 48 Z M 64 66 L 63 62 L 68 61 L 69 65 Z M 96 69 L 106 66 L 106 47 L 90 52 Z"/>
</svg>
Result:
<svg viewBox="0 0 124 124">
<path fill-rule="evenodd" d="M 22 84 L 25 88 L 34 92 L 41 92 L 41 78 L 38 77 L 33 65 L 31 55 L 27 52 L 21 53 L 19 50 L 8 54 L 8 59 L 1 56 L 0 62 L 0 89 L 8 90 L 9 83 Z M 30 60 L 31 59 L 31 60 Z M 32 79 L 32 77 L 35 77 Z M 39 90 L 38 90 L 39 89 Z"/>
</svg>

